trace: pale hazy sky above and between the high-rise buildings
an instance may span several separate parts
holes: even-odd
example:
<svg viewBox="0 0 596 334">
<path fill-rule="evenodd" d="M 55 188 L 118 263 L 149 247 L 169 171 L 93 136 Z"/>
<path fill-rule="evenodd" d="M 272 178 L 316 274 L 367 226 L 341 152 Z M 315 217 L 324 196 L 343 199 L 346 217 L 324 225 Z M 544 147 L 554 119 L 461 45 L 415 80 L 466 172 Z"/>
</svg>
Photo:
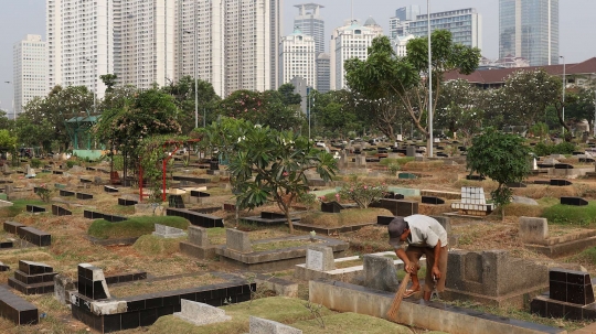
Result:
<svg viewBox="0 0 596 334">
<path fill-rule="evenodd" d="M 352 18 L 350 0 L 283 0 L 284 32 L 291 33 L 295 4 L 316 2 L 324 6 L 327 40 L 333 28 Z M 353 0 L 353 18 L 362 22 L 373 17 L 385 32 L 395 10 L 407 4 L 419 4 L 426 13 L 425 0 Z M 445 11 L 473 7 L 482 15 L 482 55 L 496 58 L 499 51 L 499 0 L 430 0 L 430 11 Z M 0 0 L 0 108 L 10 109 L 12 86 L 12 46 L 26 34 L 41 34 L 45 40 L 45 0 Z M 560 52 L 567 63 L 582 62 L 596 56 L 596 1 L 560 1 Z M 329 42 L 326 41 L 327 45 Z"/>
</svg>

